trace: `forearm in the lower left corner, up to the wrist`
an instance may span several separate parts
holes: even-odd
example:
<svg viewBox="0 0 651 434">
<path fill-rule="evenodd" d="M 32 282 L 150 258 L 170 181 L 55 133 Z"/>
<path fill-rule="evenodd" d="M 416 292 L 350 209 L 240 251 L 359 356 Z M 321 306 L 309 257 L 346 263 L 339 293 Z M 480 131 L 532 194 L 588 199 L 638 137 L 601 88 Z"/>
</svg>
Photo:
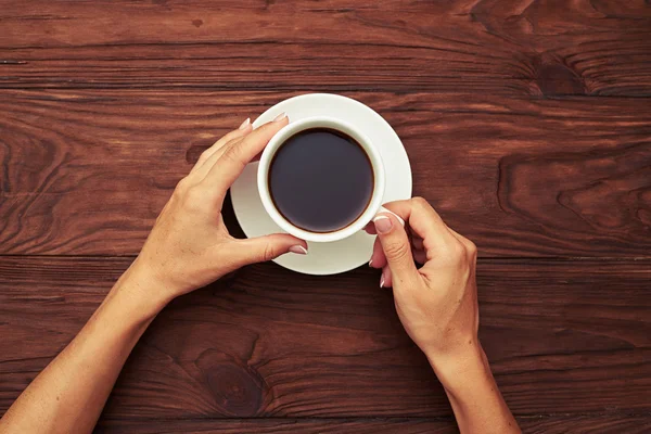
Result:
<svg viewBox="0 0 651 434">
<path fill-rule="evenodd" d="M 140 283 L 128 275 L 8 410 L 2 433 L 92 431 L 129 353 L 159 309 L 140 297 Z"/>
</svg>

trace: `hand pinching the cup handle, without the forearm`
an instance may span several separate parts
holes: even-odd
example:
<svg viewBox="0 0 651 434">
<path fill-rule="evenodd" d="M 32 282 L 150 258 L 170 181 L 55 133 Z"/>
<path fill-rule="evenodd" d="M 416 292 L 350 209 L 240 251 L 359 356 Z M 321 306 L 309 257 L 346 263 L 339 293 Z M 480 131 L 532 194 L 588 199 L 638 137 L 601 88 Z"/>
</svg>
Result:
<svg viewBox="0 0 651 434">
<path fill-rule="evenodd" d="M 393 286 L 405 330 L 437 374 L 482 354 L 477 340 L 476 247 L 448 228 L 422 197 L 384 205 L 367 231 L 378 234 L 371 267 Z M 416 261 L 423 264 L 417 268 Z"/>
</svg>

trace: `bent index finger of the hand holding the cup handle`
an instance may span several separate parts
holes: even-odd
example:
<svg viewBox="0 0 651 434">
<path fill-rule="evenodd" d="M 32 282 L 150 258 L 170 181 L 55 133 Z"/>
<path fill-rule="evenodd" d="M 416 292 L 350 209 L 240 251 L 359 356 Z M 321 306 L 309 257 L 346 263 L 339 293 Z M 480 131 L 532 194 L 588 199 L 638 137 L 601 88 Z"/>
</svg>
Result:
<svg viewBox="0 0 651 434">
<path fill-rule="evenodd" d="M 456 242 L 441 216 L 424 199 L 413 197 L 390 202 L 384 206 L 409 224 L 411 233 L 423 240 L 423 247 L 430 254 L 435 255 L 437 251 L 445 251 Z"/>
</svg>

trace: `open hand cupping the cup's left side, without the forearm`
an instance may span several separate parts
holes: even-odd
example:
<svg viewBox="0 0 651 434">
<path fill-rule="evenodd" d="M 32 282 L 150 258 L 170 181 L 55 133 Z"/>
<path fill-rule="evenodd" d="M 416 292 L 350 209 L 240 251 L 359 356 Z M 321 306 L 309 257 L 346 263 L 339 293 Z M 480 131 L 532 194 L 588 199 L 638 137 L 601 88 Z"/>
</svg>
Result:
<svg viewBox="0 0 651 434">
<path fill-rule="evenodd" d="M 285 125 L 283 116 L 253 130 L 246 120 L 201 155 L 176 187 L 129 270 L 146 280 L 139 286 L 155 288 L 152 295 L 168 303 L 244 265 L 307 253 L 307 243 L 289 234 L 234 239 L 221 216 L 228 189 Z"/>
</svg>

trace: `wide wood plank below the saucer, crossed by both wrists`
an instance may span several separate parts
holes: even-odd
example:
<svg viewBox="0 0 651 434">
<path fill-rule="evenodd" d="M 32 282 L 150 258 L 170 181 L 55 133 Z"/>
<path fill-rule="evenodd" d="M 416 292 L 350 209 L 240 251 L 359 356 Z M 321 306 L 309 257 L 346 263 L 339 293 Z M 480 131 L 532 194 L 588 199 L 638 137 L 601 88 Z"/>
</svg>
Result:
<svg viewBox="0 0 651 434">
<path fill-rule="evenodd" d="M 0 409 L 69 342 L 129 258 L 0 258 Z M 518 416 L 651 410 L 651 259 L 484 259 L 481 340 Z M 240 270 L 154 321 L 106 406 L 120 418 L 450 417 L 362 268 Z M 598 391 L 598 392 L 596 392 Z"/>
</svg>

